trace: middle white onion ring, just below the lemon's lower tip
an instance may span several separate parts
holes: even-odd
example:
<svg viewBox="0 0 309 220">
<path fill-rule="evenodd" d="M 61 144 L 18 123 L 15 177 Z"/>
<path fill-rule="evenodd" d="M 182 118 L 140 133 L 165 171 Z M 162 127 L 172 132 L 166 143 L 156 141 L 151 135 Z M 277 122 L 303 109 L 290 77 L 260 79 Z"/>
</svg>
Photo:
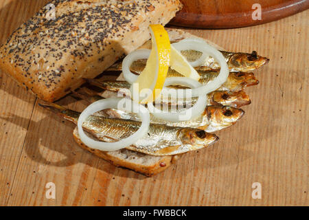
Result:
<svg viewBox="0 0 309 220">
<path fill-rule="evenodd" d="M 201 83 L 198 83 L 198 81 L 193 80 L 191 78 L 186 77 L 170 77 L 166 78 L 164 86 L 167 87 L 168 85 L 185 85 L 187 87 L 201 87 Z M 167 91 L 170 90 L 168 88 L 163 88 Z M 179 89 L 176 89 L 179 90 Z M 183 90 L 184 91 L 184 90 Z M 190 97 L 189 97 L 190 98 Z M 162 120 L 170 121 L 170 122 L 182 122 L 186 120 L 192 120 L 194 118 L 197 118 L 199 115 L 205 111 L 205 107 L 207 104 L 207 96 L 205 94 L 198 96 L 198 100 L 196 101 L 196 104 L 194 104 L 193 107 L 190 109 L 186 109 L 183 111 L 179 111 L 176 113 L 172 112 L 166 112 L 166 111 L 160 111 L 159 109 L 156 109 L 152 102 L 148 102 L 147 106 L 149 111 L 154 115 L 156 118 L 160 118 Z M 189 116 L 187 116 L 189 114 Z"/>
</svg>

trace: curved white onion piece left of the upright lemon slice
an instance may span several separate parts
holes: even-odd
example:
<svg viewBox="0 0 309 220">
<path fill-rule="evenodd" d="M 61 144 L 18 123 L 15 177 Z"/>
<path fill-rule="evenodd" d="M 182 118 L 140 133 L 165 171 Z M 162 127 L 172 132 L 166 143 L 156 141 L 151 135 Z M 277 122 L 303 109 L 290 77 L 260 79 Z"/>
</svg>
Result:
<svg viewBox="0 0 309 220">
<path fill-rule="evenodd" d="M 150 56 L 150 52 L 151 50 L 147 49 L 135 50 L 124 58 L 124 61 L 122 61 L 122 72 L 124 73 L 124 78 L 128 83 L 135 83 L 137 78 L 139 77 L 138 75 L 135 75 L 133 74 L 133 72 L 130 71 L 130 66 L 132 65 L 132 63 L 140 59 L 147 59 Z"/>
</svg>

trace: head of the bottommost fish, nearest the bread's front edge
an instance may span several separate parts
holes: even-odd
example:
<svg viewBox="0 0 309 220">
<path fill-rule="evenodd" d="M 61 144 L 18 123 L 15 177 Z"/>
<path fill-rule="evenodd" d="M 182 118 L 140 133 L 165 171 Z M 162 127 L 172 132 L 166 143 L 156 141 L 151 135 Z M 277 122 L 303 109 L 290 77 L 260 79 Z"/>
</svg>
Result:
<svg viewBox="0 0 309 220">
<path fill-rule="evenodd" d="M 207 133 L 201 129 L 183 128 L 179 130 L 178 135 L 183 144 L 194 146 L 208 146 L 219 140 L 215 134 Z"/>
</svg>

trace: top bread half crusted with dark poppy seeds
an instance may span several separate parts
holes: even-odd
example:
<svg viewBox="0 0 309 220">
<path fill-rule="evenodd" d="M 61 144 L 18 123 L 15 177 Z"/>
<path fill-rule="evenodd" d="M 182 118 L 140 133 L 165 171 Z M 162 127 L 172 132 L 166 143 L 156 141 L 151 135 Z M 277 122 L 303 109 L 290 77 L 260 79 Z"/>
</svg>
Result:
<svg viewBox="0 0 309 220">
<path fill-rule="evenodd" d="M 0 47 L 0 69 L 48 102 L 95 78 L 165 25 L 179 0 L 54 0 Z"/>
</svg>

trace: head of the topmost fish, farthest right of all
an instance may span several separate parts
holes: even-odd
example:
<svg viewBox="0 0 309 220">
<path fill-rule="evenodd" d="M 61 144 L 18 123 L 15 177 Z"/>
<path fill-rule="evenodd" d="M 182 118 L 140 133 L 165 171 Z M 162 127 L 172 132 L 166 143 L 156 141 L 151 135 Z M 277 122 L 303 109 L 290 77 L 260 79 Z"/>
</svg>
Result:
<svg viewBox="0 0 309 220">
<path fill-rule="evenodd" d="M 264 56 L 259 56 L 256 51 L 251 54 L 236 53 L 231 56 L 229 65 L 232 69 L 247 69 L 247 71 L 258 69 L 262 65 L 266 65 L 269 59 Z"/>
</svg>

